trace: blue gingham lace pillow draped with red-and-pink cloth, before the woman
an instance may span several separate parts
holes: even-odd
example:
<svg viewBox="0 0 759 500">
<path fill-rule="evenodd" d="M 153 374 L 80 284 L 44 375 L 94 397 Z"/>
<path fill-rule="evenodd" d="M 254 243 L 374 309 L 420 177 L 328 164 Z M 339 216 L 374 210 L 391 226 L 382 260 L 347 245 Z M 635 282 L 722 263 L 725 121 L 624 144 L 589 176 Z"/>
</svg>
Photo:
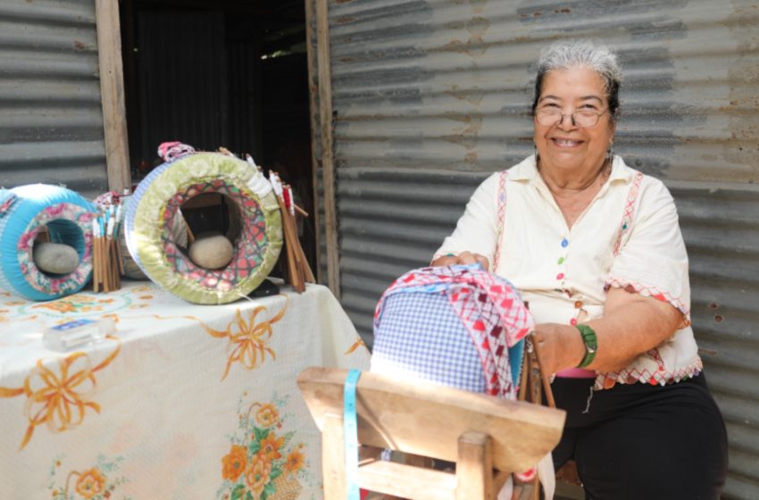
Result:
<svg viewBox="0 0 759 500">
<path fill-rule="evenodd" d="M 507 279 L 479 265 L 416 269 L 377 304 L 371 371 L 514 399 L 532 329 Z"/>
</svg>

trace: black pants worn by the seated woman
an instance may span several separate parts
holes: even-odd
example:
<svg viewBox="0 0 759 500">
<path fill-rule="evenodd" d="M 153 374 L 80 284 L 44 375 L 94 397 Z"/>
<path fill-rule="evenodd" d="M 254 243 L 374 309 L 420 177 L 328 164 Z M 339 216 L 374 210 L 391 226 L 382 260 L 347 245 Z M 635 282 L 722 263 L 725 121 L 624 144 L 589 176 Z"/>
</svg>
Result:
<svg viewBox="0 0 759 500">
<path fill-rule="evenodd" d="M 556 378 L 552 384 L 556 406 L 567 411 L 554 465 L 577 462 L 586 498 L 720 497 L 727 433 L 703 373 L 670 386 L 617 384 L 590 397 L 593 382 Z"/>
</svg>

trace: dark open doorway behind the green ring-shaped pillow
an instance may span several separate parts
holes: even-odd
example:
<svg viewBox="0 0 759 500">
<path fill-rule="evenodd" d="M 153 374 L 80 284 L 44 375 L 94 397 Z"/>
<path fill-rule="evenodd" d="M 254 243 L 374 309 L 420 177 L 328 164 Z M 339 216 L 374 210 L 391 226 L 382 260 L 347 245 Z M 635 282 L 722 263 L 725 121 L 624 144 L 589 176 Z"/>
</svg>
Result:
<svg viewBox="0 0 759 500">
<path fill-rule="evenodd" d="M 121 44 L 133 183 L 179 140 L 224 146 L 293 186 L 313 213 L 303 0 L 122 0 Z M 315 268 L 313 216 L 301 228 Z"/>
</svg>

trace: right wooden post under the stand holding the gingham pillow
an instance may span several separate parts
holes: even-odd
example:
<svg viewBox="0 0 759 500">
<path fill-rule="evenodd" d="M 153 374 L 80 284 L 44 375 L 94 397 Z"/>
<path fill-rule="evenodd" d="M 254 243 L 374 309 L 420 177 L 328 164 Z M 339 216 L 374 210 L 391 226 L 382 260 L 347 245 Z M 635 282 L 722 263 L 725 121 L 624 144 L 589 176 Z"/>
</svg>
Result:
<svg viewBox="0 0 759 500">
<path fill-rule="evenodd" d="M 490 437 L 480 432 L 464 432 L 459 437 L 458 448 L 456 499 L 491 500 L 495 498 Z"/>
</svg>

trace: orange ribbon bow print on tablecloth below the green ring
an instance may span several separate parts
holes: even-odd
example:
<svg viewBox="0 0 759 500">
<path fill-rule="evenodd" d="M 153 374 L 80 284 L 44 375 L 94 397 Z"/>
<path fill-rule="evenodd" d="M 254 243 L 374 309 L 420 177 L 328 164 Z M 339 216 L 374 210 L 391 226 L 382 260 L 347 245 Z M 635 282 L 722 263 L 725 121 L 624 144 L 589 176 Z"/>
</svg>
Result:
<svg viewBox="0 0 759 500">
<path fill-rule="evenodd" d="M 229 322 L 227 329 L 221 331 L 212 329 L 201 322 L 201 326 L 205 329 L 206 333 L 212 337 L 224 338 L 229 337 L 229 343 L 234 345 L 232 354 L 229 354 L 227 360 L 227 367 L 224 370 L 224 374 L 221 379 L 226 379 L 229 374 L 229 368 L 231 368 L 233 362 L 241 362 L 248 370 L 253 370 L 258 367 L 260 362 L 266 359 L 266 354 L 271 355 L 271 359 L 275 359 L 277 356 L 271 347 L 266 346 L 266 341 L 271 338 L 272 328 L 271 325 L 281 320 L 285 316 L 285 311 L 288 309 L 288 303 L 282 306 L 282 309 L 271 318 L 269 321 L 260 321 L 256 324 L 255 318 L 260 312 L 266 311 L 266 307 L 263 305 L 257 306 L 250 312 L 250 321 L 243 319 L 242 312 L 238 309 L 235 312 L 235 319 Z M 233 329 L 237 327 L 237 332 L 233 333 Z"/>
</svg>

